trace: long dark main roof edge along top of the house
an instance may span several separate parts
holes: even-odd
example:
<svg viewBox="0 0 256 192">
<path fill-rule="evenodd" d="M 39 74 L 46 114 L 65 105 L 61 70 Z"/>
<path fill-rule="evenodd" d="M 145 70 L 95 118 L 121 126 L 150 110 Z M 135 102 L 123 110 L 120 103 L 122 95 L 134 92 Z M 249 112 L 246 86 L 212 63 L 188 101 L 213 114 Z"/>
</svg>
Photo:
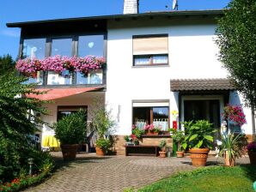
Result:
<svg viewBox="0 0 256 192">
<path fill-rule="evenodd" d="M 153 17 L 153 16 L 189 16 L 189 15 L 222 15 L 223 9 L 210 9 L 210 10 L 173 10 L 162 12 L 149 12 L 142 14 L 127 14 L 127 15 L 102 15 L 102 16 L 88 16 L 78 18 L 45 20 L 45 21 L 26 21 L 26 22 L 14 22 L 7 23 L 7 27 L 24 27 L 38 24 L 50 24 L 56 22 L 70 22 L 70 21 L 107 21 L 111 19 L 124 19 L 124 18 L 140 18 L 140 17 Z"/>
</svg>

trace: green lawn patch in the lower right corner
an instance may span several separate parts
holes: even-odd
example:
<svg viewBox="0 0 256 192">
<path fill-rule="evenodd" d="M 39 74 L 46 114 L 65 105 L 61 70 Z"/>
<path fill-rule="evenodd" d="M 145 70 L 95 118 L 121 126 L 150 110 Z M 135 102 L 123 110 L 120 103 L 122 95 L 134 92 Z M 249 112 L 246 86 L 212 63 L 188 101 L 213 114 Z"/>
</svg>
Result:
<svg viewBox="0 0 256 192">
<path fill-rule="evenodd" d="M 181 172 L 138 189 L 139 192 L 246 192 L 254 191 L 256 166 L 210 166 Z"/>
</svg>

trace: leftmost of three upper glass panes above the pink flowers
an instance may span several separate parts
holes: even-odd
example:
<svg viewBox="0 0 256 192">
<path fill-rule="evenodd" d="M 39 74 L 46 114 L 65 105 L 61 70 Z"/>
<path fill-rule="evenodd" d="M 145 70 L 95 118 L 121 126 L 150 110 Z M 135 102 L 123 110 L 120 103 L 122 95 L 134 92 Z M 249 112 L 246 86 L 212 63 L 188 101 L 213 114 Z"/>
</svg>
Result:
<svg viewBox="0 0 256 192">
<path fill-rule="evenodd" d="M 46 39 L 24 39 L 22 58 L 43 59 L 46 55 Z"/>
</svg>

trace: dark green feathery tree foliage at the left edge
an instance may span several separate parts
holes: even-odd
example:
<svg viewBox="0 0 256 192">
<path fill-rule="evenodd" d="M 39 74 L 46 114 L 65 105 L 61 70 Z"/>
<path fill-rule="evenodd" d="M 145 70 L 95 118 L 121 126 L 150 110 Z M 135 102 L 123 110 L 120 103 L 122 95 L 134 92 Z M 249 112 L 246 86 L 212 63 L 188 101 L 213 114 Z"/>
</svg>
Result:
<svg viewBox="0 0 256 192">
<path fill-rule="evenodd" d="M 29 111 L 46 114 L 44 102 L 25 97 L 28 93 L 38 94 L 35 84 L 22 84 L 26 80 L 15 72 L 0 75 L 0 181 L 17 177 L 34 153 L 29 135 L 34 134 L 41 121 Z"/>
</svg>

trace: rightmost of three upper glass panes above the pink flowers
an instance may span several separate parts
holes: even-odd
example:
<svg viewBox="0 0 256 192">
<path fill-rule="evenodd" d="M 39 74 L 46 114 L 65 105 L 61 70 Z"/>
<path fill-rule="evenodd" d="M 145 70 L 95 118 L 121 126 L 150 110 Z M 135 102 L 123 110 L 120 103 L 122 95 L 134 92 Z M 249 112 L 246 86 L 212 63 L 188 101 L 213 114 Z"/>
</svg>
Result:
<svg viewBox="0 0 256 192">
<path fill-rule="evenodd" d="M 103 35 L 87 35 L 78 38 L 78 57 L 94 55 L 103 56 L 104 36 Z"/>
</svg>

